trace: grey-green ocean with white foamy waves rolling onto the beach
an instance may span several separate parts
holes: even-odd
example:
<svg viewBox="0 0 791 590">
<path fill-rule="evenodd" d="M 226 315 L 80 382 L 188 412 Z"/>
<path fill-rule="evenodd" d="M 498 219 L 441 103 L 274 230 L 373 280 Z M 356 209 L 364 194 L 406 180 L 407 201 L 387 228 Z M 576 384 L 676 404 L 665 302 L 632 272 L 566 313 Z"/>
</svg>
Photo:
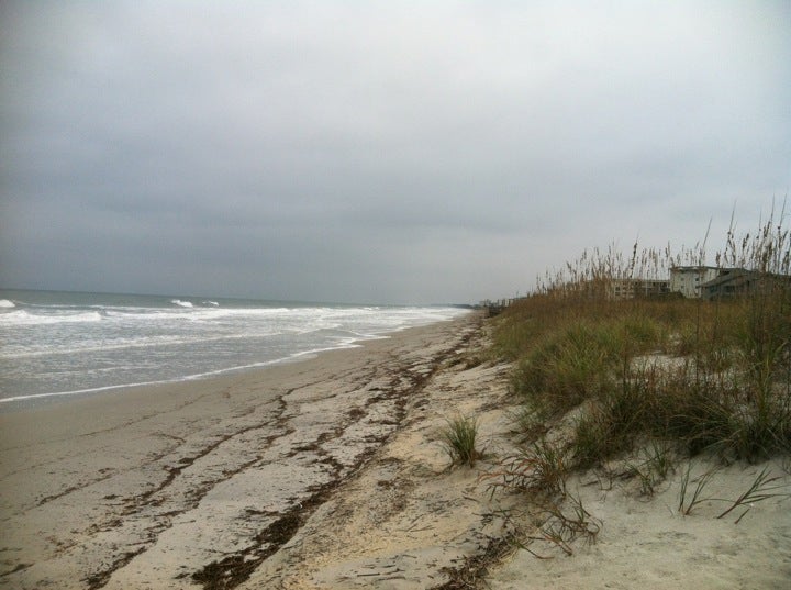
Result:
<svg viewBox="0 0 791 590">
<path fill-rule="evenodd" d="M 456 307 L 0 290 L 0 407 L 297 360 L 463 313 Z"/>
</svg>

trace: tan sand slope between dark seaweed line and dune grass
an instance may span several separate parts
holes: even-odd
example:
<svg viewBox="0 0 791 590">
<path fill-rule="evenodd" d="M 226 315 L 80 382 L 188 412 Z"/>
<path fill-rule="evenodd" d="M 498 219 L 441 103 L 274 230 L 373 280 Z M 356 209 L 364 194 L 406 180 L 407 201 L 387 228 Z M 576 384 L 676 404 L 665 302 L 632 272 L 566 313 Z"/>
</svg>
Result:
<svg viewBox="0 0 791 590">
<path fill-rule="evenodd" d="M 437 432 L 457 413 L 476 415 L 482 446 L 502 449 L 506 368 L 456 366 L 435 375 L 365 470 L 243 588 L 430 588 L 447 580 L 444 568 L 501 536 L 500 502 L 490 500 L 478 469 L 448 469 Z"/>
</svg>

